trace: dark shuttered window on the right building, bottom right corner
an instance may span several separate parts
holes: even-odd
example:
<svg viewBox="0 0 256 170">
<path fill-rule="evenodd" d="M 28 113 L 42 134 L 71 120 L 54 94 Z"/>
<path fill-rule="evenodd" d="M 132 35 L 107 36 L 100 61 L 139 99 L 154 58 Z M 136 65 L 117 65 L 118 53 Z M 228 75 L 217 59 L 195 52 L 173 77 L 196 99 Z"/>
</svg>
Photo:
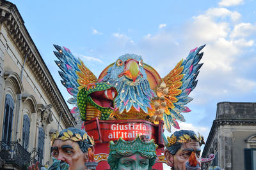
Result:
<svg viewBox="0 0 256 170">
<path fill-rule="evenodd" d="M 256 148 L 244 149 L 245 170 L 256 170 Z"/>
</svg>

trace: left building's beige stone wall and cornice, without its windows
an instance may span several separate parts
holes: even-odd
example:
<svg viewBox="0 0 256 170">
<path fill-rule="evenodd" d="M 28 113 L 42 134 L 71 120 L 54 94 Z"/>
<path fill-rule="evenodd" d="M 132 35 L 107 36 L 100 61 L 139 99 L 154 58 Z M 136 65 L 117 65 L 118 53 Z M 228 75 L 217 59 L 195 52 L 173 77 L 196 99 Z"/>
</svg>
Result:
<svg viewBox="0 0 256 170">
<path fill-rule="evenodd" d="M 76 123 L 44 60 L 26 31 L 19 11 L 8 1 L 0 2 L 0 72 L 1 139 L 5 99 L 6 94 L 10 94 L 14 101 L 11 141 L 19 141 L 22 145 L 23 118 L 24 115 L 28 115 L 30 122 L 28 152 L 32 152 L 33 149 L 37 151 L 38 131 L 43 127 L 45 139 L 42 164 L 45 164 L 50 160 L 51 132 L 58 129 L 58 121 L 60 120 L 60 129 L 74 127 Z M 34 154 L 35 152 L 31 157 Z"/>
</svg>

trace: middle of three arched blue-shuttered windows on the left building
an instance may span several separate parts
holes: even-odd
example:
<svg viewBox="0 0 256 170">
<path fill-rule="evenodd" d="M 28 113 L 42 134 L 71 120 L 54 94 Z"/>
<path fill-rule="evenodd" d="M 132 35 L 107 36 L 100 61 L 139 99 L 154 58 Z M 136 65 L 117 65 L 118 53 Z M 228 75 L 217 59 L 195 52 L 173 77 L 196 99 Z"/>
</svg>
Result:
<svg viewBox="0 0 256 170">
<path fill-rule="evenodd" d="M 28 150 L 28 144 L 29 144 L 29 128 L 30 128 L 29 117 L 28 115 L 24 115 L 23 127 L 22 127 L 22 146 L 26 150 Z"/>
</svg>

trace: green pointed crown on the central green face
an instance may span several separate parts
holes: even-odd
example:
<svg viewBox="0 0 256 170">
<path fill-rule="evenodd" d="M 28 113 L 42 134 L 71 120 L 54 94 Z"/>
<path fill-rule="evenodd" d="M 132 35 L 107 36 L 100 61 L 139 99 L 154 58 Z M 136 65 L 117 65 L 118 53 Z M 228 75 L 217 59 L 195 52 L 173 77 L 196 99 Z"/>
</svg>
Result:
<svg viewBox="0 0 256 170">
<path fill-rule="evenodd" d="M 145 142 L 141 140 L 140 136 L 137 136 L 137 138 L 134 139 L 133 141 L 125 141 L 120 137 L 116 143 L 110 141 L 109 148 L 109 152 L 115 150 L 136 150 L 141 152 L 156 153 L 157 145 L 155 144 L 154 139 Z"/>
</svg>

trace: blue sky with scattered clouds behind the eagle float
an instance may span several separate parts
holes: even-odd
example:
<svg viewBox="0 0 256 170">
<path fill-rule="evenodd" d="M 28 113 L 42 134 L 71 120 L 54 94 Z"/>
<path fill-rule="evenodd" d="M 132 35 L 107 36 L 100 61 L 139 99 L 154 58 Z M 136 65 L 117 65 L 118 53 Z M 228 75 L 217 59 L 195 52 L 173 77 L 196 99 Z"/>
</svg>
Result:
<svg viewBox="0 0 256 170">
<path fill-rule="evenodd" d="M 65 99 L 53 44 L 69 48 L 96 76 L 119 56 L 136 53 L 161 78 L 206 44 L 181 129 L 207 139 L 217 103 L 256 101 L 255 0 L 10 1 Z"/>
</svg>

